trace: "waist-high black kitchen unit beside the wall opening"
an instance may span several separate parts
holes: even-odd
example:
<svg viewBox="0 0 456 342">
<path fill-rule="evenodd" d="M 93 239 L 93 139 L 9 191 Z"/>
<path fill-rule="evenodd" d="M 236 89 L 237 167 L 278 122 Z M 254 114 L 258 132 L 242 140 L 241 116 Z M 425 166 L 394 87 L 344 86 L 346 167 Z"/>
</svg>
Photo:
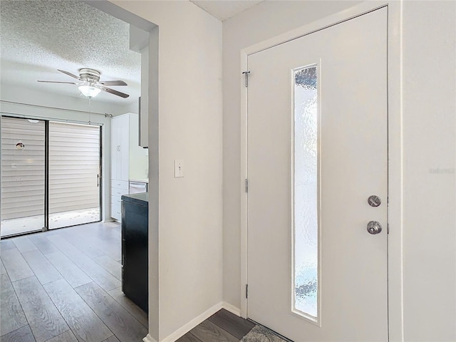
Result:
<svg viewBox="0 0 456 342">
<path fill-rule="evenodd" d="M 122 290 L 133 303 L 148 311 L 149 193 L 122 198 Z"/>
</svg>

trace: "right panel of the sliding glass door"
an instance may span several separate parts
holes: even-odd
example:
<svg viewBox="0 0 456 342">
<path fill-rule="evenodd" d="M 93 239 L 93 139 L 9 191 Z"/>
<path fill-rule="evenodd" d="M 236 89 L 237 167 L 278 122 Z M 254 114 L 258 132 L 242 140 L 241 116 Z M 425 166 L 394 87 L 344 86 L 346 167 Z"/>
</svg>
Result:
<svg viewBox="0 0 456 342">
<path fill-rule="evenodd" d="M 100 221 L 100 127 L 49 123 L 49 229 Z"/>
</svg>

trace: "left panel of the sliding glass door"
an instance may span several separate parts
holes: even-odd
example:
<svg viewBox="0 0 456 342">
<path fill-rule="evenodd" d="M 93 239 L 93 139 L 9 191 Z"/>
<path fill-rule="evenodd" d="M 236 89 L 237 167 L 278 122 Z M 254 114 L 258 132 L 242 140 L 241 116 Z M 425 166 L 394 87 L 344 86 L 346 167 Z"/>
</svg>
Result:
<svg viewBox="0 0 456 342">
<path fill-rule="evenodd" d="M 46 122 L 1 119 L 1 236 L 45 227 Z"/>
</svg>

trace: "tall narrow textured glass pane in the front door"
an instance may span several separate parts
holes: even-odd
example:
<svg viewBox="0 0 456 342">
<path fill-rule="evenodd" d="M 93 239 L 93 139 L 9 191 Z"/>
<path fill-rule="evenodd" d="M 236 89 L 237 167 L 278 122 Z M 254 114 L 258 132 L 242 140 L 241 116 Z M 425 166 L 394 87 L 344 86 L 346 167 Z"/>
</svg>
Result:
<svg viewBox="0 0 456 342">
<path fill-rule="evenodd" d="M 318 316 L 317 67 L 294 72 L 294 309 Z"/>
</svg>

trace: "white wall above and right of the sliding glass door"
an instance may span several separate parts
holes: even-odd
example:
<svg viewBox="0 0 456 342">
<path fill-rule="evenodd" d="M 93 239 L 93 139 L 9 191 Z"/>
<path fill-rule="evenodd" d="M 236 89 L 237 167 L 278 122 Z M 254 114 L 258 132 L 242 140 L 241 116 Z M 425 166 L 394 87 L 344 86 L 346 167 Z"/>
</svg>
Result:
<svg viewBox="0 0 456 342">
<path fill-rule="evenodd" d="M 110 118 L 104 115 L 81 113 L 77 110 L 91 111 L 93 113 L 109 113 L 120 115 L 133 109 L 130 106 L 110 105 L 109 103 L 92 100 L 90 108 L 87 98 L 75 98 L 71 96 L 54 95 L 40 90 L 18 88 L 16 86 L 1 84 L 0 100 L 15 103 L 28 103 L 28 105 L 17 105 L 13 103 L 0 102 L 2 114 L 27 115 L 36 118 L 56 119 L 68 122 L 96 123 L 102 125 L 103 145 L 103 220 L 111 221 L 110 218 Z M 57 110 L 41 108 L 33 105 L 41 105 L 54 108 L 65 108 L 68 110 Z M 75 110 L 75 111 L 71 111 Z M 138 109 L 136 110 L 138 112 Z"/>
</svg>

